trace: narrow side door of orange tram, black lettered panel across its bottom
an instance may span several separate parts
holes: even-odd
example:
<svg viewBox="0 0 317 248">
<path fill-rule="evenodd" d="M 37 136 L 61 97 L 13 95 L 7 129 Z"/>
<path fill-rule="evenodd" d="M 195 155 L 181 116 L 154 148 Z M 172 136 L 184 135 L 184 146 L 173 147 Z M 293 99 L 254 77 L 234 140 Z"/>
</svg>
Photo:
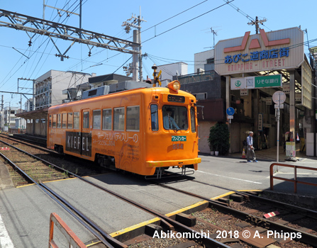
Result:
<svg viewBox="0 0 317 248">
<path fill-rule="evenodd" d="M 82 110 L 82 128 L 80 130 L 80 154 L 87 157 L 91 157 L 91 123 L 89 113 L 89 109 Z"/>
</svg>

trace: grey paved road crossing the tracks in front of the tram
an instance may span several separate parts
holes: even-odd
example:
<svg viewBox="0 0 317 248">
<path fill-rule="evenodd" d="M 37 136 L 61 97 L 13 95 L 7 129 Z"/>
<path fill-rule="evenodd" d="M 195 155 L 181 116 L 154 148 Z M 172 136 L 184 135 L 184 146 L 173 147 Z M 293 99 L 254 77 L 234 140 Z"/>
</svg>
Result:
<svg viewBox="0 0 317 248">
<path fill-rule="evenodd" d="M 187 179 L 162 181 L 167 182 L 169 186 L 208 198 L 228 191 L 199 184 L 192 179 L 235 190 L 264 190 L 269 188 L 269 165 L 272 164 L 272 159 L 269 159 L 269 155 L 261 155 L 260 151 L 257 152 L 257 155 L 259 158 L 257 163 L 246 163 L 245 159 L 240 159 L 238 154 L 230 157 L 200 155 L 202 162 L 194 176 Z M 261 159 L 261 156 L 264 158 Z M 288 164 L 316 167 L 315 158 L 301 157 L 299 159 L 298 162 Z M 284 162 L 284 164 L 286 163 Z M 317 182 L 316 172 L 301 171 L 299 179 Z M 284 167 L 279 167 L 279 171 L 277 171 L 279 176 L 287 178 L 291 178 L 292 173 L 293 169 Z M 164 214 L 200 201 L 198 198 L 184 196 L 182 193 L 175 193 L 170 189 L 149 184 L 148 181 L 135 178 L 130 174 L 113 173 L 88 179 Z M 89 218 L 109 233 L 153 218 L 149 213 L 144 213 L 143 210 L 132 207 L 107 193 L 101 193 L 78 179 L 55 181 L 47 183 L 47 185 L 63 197 L 69 196 L 70 203 L 76 204 L 79 210 L 89 215 Z M 277 191 L 291 192 L 293 188 L 291 183 L 274 181 L 274 189 Z M 316 194 L 316 188 L 300 186 L 299 193 Z M 94 240 L 93 235 L 77 220 L 69 217 L 60 205 L 57 205 L 43 191 L 33 185 L 0 190 L 0 247 L 4 247 L 5 242 L 9 242 L 9 239 L 11 246 L 8 244 L 6 247 L 10 248 L 47 247 L 49 216 L 52 212 L 59 214 L 83 242 L 89 244 Z"/>
</svg>

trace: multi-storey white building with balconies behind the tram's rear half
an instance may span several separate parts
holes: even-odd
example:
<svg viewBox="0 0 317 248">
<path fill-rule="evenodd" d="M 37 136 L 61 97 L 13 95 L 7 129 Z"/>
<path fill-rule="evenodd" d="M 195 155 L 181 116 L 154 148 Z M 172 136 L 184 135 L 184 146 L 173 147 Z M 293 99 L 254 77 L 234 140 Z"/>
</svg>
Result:
<svg viewBox="0 0 317 248">
<path fill-rule="evenodd" d="M 89 74 L 81 72 L 60 72 L 50 70 L 35 79 L 35 110 L 48 108 L 62 103 L 67 98 L 63 90 L 76 88 L 88 81 Z"/>
</svg>

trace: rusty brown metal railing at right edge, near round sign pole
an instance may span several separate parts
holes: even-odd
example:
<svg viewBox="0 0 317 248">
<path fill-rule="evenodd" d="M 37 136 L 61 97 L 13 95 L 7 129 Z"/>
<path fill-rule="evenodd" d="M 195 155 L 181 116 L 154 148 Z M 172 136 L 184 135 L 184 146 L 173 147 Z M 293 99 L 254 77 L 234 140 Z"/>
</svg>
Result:
<svg viewBox="0 0 317 248">
<path fill-rule="evenodd" d="M 291 167 L 294 168 L 294 179 L 285 179 L 279 176 L 273 176 L 274 171 L 273 171 L 273 167 L 274 166 L 279 166 L 279 167 Z M 306 184 L 306 185 L 310 185 L 310 186 L 317 186 L 317 184 L 313 184 L 313 183 L 308 183 L 307 181 L 299 181 L 297 179 L 297 169 L 307 169 L 307 170 L 311 170 L 311 171 L 317 171 L 317 168 L 311 168 L 311 167 L 301 167 L 298 165 L 291 165 L 291 164 L 279 164 L 279 163 L 273 163 L 270 165 L 269 167 L 269 186 L 271 191 L 273 190 L 274 184 L 273 184 L 273 179 L 278 179 L 278 180 L 282 180 L 282 181 L 289 181 L 291 183 L 294 183 L 294 193 L 297 193 L 297 184 Z"/>
</svg>

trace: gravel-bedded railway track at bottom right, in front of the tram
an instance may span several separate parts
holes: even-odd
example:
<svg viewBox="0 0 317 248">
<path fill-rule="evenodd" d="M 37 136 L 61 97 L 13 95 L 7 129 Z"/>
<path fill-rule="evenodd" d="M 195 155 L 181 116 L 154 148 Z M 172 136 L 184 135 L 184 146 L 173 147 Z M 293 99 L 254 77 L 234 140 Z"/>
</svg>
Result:
<svg viewBox="0 0 317 248">
<path fill-rule="evenodd" d="M 316 247 L 317 245 L 315 210 L 263 198 L 254 193 L 233 191 L 230 188 L 207 184 L 234 192 L 229 198 L 221 199 L 228 204 L 223 205 L 218 201 L 211 201 L 204 196 L 166 184 L 153 183 L 208 201 L 208 208 L 192 215 L 197 218 L 200 230 L 211 233 L 211 237 L 220 242 L 249 244 L 251 247 L 266 247 L 269 244 L 283 245 L 283 247 Z M 269 218 L 268 213 L 273 217 Z M 246 237 L 244 233 L 248 233 L 250 237 Z"/>
</svg>

